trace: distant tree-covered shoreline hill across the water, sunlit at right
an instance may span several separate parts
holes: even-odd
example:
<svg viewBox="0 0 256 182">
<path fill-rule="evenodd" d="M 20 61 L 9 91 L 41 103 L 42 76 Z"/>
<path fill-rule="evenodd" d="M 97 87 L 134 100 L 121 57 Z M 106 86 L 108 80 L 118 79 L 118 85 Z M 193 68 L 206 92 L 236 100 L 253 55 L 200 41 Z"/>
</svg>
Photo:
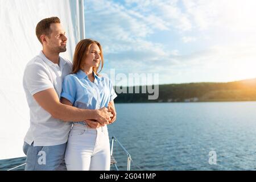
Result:
<svg viewBox="0 0 256 182">
<path fill-rule="evenodd" d="M 156 85 L 154 93 L 151 94 L 146 92 L 147 86 L 123 87 L 122 90 L 129 90 L 131 93 L 117 93 L 115 103 L 245 102 L 256 101 L 256 78 L 226 83 Z M 137 93 L 134 93 L 134 90 L 137 90 Z M 148 96 L 152 95 L 158 98 L 148 100 Z"/>
</svg>

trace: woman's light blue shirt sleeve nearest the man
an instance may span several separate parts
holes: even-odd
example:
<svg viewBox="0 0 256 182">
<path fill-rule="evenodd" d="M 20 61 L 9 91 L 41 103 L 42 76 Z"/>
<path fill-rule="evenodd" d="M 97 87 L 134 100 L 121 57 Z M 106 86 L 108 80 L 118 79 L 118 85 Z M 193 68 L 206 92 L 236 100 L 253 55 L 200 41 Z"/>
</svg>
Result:
<svg viewBox="0 0 256 182">
<path fill-rule="evenodd" d="M 63 85 L 62 85 L 62 92 L 60 97 L 64 97 L 69 102 L 74 104 L 76 98 L 76 83 L 75 77 L 72 75 L 67 75 L 64 77 Z"/>
</svg>

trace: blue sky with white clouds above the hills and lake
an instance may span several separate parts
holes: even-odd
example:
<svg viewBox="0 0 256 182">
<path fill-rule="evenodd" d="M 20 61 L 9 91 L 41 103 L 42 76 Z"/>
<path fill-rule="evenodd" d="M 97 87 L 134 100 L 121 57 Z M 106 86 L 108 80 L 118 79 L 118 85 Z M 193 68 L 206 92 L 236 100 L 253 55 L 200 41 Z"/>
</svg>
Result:
<svg viewBox="0 0 256 182">
<path fill-rule="evenodd" d="M 84 4 L 85 36 L 103 47 L 103 73 L 156 73 L 159 84 L 256 78 L 254 0 Z"/>
</svg>

